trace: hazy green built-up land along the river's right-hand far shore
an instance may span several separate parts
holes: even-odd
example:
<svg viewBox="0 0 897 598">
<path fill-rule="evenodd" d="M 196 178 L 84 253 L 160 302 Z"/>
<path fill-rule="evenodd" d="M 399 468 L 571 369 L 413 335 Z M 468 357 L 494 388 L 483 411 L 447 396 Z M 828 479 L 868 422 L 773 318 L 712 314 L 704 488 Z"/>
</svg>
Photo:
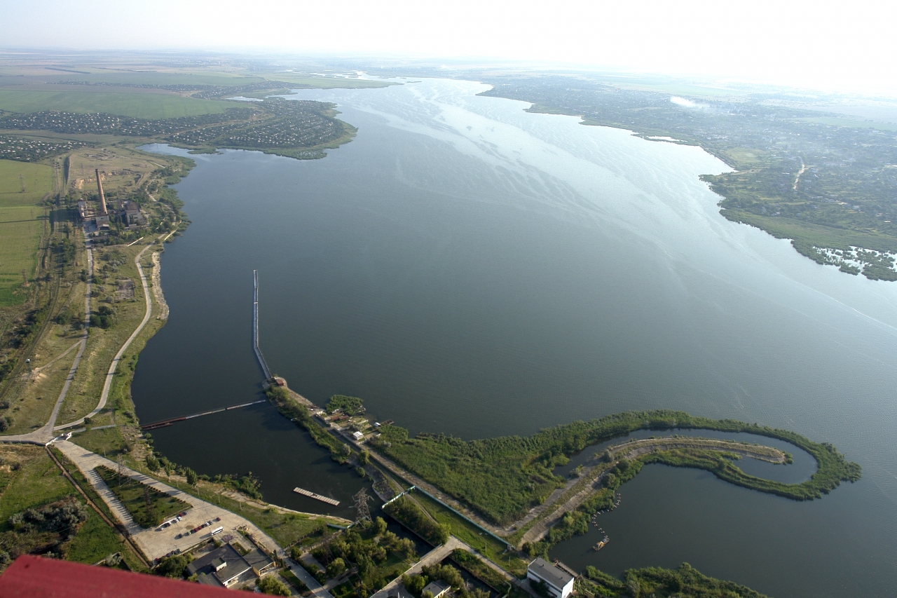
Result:
<svg viewBox="0 0 897 598">
<path fill-rule="evenodd" d="M 897 280 L 893 123 L 845 119 L 788 90 L 683 88 L 612 75 L 468 76 L 494 85 L 481 95 L 533 102 L 532 112 L 700 145 L 733 169 L 701 177 L 722 196 L 723 216 L 790 239 L 820 264 Z"/>
</svg>

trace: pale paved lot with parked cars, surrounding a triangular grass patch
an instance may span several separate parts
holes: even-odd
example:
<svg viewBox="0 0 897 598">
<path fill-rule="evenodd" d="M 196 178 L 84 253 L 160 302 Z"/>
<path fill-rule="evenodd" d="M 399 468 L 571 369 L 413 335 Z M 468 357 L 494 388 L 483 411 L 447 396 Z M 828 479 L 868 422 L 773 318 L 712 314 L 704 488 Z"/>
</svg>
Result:
<svg viewBox="0 0 897 598">
<path fill-rule="evenodd" d="M 127 477 L 135 479 L 147 486 L 152 486 L 152 488 L 169 494 L 172 497 L 178 497 L 189 503 L 191 506 L 191 508 L 187 510 L 187 515 L 179 523 L 161 531 L 158 531 L 157 528 L 144 530 L 134 523 L 130 515 L 127 514 L 125 507 L 118 501 L 118 498 L 109 491 L 109 488 L 106 488 L 105 484 L 100 483 L 100 477 L 93 471 L 99 465 L 104 465 L 110 470 L 117 470 L 117 463 L 100 457 L 98 454 L 91 453 L 87 449 L 66 440 L 57 441 L 55 445 L 66 457 L 74 462 L 78 469 L 82 471 L 84 477 L 90 480 L 91 485 L 97 490 L 97 493 L 103 499 L 103 502 L 109 506 L 109 510 L 115 515 L 118 521 L 126 526 L 128 532 L 131 533 L 132 539 L 150 560 L 153 558 L 164 557 L 172 550 L 188 550 L 193 546 L 196 546 L 199 542 L 208 540 L 210 532 L 219 525 L 224 528 L 224 533 L 230 532 L 234 536 L 238 535 L 239 529 L 244 529 L 253 540 L 263 546 L 269 553 L 283 555 L 283 550 L 280 549 L 277 543 L 265 532 L 262 532 L 255 523 L 248 521 L 248 519 L 244 519 L 238 514 L 231 513 L 231 511 L 228 511 L 221 506 L 213 505 L 212 503 L 205 502 L 205 500 L 189 495 L 178 488 L 172 488 L 168 484 L 164 484 L 158 479 L 150 478 L 139 471 L 124 468 L 124 474 Z M 214 522 L 213 525 L 205 528 L 203 532 L 197 532 L 179 539 L 175 538 L 179 533 L 193 529 L 197 525 L 213 520 L 216 517 L 221 517 L 221 521 Z M 319 598 L 327 598 L 327 596 L 320 596 Z"/>
</svg>

